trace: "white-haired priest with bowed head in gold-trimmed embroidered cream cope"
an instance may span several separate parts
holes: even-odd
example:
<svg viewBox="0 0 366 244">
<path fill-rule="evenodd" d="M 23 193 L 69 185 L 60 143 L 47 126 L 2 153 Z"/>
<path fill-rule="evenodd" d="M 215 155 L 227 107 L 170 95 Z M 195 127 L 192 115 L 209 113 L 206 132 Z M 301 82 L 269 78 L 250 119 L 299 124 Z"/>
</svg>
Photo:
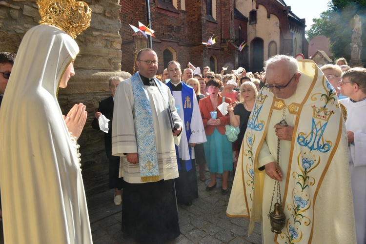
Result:
<svg viewBox="0 0 366 244">
<path fill-rule="evenodd" d="M 313 61 L 285 55 L 267 61 L 266 82 L 249 117 L 227 215 L 250 218 L 249 234 L 261 221 L 263 243 L 355 243 L 346 128 L 334 88 Z M 276 197 L 285 213 L 280 234 L 267 217 L 281 202 Z"/>
</svg>

